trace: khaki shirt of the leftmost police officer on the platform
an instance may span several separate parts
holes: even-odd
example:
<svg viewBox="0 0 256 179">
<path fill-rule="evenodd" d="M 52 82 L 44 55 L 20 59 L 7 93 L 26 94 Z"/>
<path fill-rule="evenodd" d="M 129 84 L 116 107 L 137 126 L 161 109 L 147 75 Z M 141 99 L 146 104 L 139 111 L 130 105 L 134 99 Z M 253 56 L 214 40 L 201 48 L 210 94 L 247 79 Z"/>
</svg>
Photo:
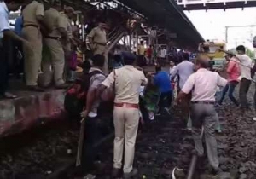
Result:
<svg viewBox="0 0 256 179">
<path fill-rule="evenodd" d="M 44 16 L 44 5 L 42 3 L 38 3 L 37 1 L 33 1 L 22 11 L 23 26 L 40 26 L 37 20 L 38 15 Z"/>
</svg>

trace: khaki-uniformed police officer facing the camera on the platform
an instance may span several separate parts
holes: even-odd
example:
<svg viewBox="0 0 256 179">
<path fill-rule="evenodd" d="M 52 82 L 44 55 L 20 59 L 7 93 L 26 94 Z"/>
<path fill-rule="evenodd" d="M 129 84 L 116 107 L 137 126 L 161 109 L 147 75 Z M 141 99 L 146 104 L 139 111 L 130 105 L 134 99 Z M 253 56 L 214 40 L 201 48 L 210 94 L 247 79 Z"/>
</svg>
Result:
<svg viewBox="0 0 256 179">
<path fill-rule="evenodd" d="M 88 34 L 90 42 L 90 49 L 93 51 L 93 55 L 104 55 L 105 64 L 103 72 L 108 73 L 108 52 L 107 52 L 107 33 L 106 24 L 100 22 L 98 26 L 93 28 Z"/>
</svg>

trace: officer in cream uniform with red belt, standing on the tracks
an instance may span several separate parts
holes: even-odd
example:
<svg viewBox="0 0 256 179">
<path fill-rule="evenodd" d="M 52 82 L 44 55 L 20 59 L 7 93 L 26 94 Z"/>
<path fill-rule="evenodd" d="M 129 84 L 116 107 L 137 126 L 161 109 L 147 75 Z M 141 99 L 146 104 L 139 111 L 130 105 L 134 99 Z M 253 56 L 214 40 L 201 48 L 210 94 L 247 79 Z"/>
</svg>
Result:
<svg viewBox="0 0 256 179">
<path fill-rule="evenodd" d="M 135 142 L 139 124 L 139 91 L 141 85 L 148 84 L 148 79 L 142 71 L 132 66 L 136 56 L 129 52 L 121 54 L 125 66 L 113 70 L 108 78 L 102 82 L 98 94 L 106 88 L 112 88 L 115 92 L 113 123 L 115 130 L 113 152 L 113 177 L 118 177 L 122 167 L 124 146 L 124 178 L 137 175 L 137 169 L 133 168 Z"/>
</svg>

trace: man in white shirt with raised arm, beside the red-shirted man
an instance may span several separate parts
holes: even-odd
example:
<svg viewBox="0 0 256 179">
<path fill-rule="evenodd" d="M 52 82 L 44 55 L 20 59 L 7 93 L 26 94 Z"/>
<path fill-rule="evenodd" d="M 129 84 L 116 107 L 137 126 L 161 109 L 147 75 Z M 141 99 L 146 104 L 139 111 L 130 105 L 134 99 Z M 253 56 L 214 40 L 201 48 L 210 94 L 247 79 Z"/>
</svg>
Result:
<svg viewBox="0 0 256 179">
<path fill-rule="evenodd" d="M 224 50 L 222 50 L 224 51 Z M 253 61 L 246 55 L 246 48 L 243 45 L 239 45 L 236 48 L 237 54 L 235 55 L 238 61 L 240 61 L 240 89 L 239 89 L 239 98 L 241 103 L 241 112 L 249 109 L 247 101 L 247 92 L 252 83 L 252 68 Z M 234 55 L 230 52 L 224 51 L 228 55 Z"/>
</svg>

